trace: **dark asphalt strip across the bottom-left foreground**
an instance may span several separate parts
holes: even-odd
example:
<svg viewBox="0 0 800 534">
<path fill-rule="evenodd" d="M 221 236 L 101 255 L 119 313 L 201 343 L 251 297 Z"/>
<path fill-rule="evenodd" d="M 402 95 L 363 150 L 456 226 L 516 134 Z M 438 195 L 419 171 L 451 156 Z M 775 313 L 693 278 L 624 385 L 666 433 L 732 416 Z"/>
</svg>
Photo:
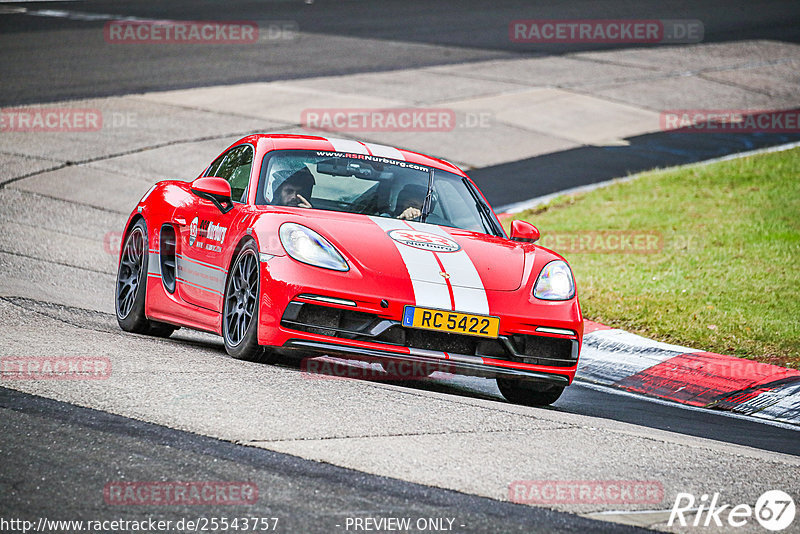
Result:
<svg viewBox="0 0 800 534">
<path fill-rule="evenodd" d="M 5 388 L 0 413 L 2 449 L 14 459 L 4 462 L 0 478 L 4 518 L 177 522 L 238 515 L 278 518 L 278 532 L 328 533 L 345 532 L 348 516 L 386 515 L 450 518 L 457 532 L 530 532 L 534 526 L 537 532 L 643 531 L 366 475 Z M 254 505 L 203 506 L 200 512 L 192 506 L 131 510 L 104 502 L 109 480 L 153 480 L 154 473 L 162 480 L 247 481 L 256 484 L 259 499 Z"/>
</svg>

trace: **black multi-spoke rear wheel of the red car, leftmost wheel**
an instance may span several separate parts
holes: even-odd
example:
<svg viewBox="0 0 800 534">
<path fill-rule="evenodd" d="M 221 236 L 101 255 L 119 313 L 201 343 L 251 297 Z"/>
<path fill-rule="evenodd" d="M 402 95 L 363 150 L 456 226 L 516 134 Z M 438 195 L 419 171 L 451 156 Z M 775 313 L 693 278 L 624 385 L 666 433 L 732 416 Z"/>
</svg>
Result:
<svg viewBox="0 0 800 534">
<path fill-rule="evenodd" d="M 169 337 L 177 327 L 151 321 L 144 314 L 149 256 L 147 225 L 140 219 L 125 236 L 122 245 L 114 291 L 117 322 L 126 332 Z"/>
</svg>

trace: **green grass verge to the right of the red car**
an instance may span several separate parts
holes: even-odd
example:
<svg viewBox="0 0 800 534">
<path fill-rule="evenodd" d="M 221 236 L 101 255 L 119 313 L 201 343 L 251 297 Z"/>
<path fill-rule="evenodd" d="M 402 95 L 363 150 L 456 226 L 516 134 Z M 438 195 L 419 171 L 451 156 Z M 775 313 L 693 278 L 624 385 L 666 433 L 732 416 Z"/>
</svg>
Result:
<svg viewBox="0 0 800 534">
<path fill-rule="evenodd" d="M 514 218 L 570 262 L 587 319 L 800 368 L 800 149 L 655 171 Z"/>
</svg>

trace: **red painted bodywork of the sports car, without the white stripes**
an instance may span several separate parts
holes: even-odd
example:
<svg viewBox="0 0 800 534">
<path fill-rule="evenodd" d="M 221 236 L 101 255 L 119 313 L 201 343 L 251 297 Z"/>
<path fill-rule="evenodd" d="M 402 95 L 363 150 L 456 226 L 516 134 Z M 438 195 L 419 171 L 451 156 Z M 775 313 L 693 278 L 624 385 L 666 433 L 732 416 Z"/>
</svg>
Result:
<svg viewBox="0 0 800 534">
<path fill-rule="evenodd" d="M 251 184 L 258 180 L 262 159 L 270 151 L 334 150 L 323 137 L 259 134 L 240 139 L 226 152 L 241 144 L 249 144 L 255 149 Z M 405 150 L 400 152 L 406 161 L 466 177 L 463 171 L 448 162 Z M 177 234 L 177 254 L 192 252 L 195 254 L 194 260 L 214 265 L 220 276 L 226 276 L 238 245 L 243 239 L 253 239 L 262 255 L 273 256 L 268 261 L 260 262 L 260 344 L 281 347 L 289 340 L 311 340 L 369 349 L 389 357 L 409 353 L 409 349 L 402 346 L 316 335 L 291 330 L 280 324 L 287 304 L 292 300 L 302 301 L 298 298 L 301 294 L 355 301 L 357 311 L 401 320 L 404 306 L 414 304 L 409 274 L 391 239 L 368 217 L 316 209 L 257 206 L 256 187 L 249 189 L 246 203 L 236 203 L 231 211 L 222 214 L 210 201 L 193 194 L 190 187 L 191 183 L 184 181 L 170 180 L 156 184 L 131 213 L 123 240 L 136 220 L 143 218 L 147 224 L 150 252 L 157 253 L 162 225 L 172 224 Z M 189 245 L 191 221 L 195 216 L 227 228 L 220 251 L 197 251 L 193 250 L 197 247 Z M 300 263 L 288 256 L 278 237 L 278 228 L 284 222 L 300 223 L 324 236 L 342 253 L 350 270 L 327 270 Z M 576 340 L 580 347 L 583 317 L 577 295 L 567 301 L 544 301 L 533 297 L 533 286 L 542 268 L 550 261 L 563 260 L 561 256 L 529 242 L 441 228 L 461 245 L 474 263 L 486 290 L 490 314 L 500 317 L 501 335 L 520 333 L 565 338 Z M 151 261 L 152 257 L 151 254 Z M 170 293 L 165 290 L 160 277 L 148 276 L 146 316 L 221 335 L 222 296 L 198 291 L 180 282 L 176 286 L 175 292 Z M 381 306 L 382 300 L 388 301 L 387 308 Z M 335 304 L 332 306 L 337 307 Z M 543 334 L 536 332 L 537 327 L 562 328 L 572 330 L 575 334 Z M 357 355 L 355 357 L 358 358 Z M 487 368 L 559 375 L 567 378 L 569 383 L 577 367 L 577 360 L 573 367 L 547 367 L 486 357 L 483 357 L 483 363 Z"/>
</svg>

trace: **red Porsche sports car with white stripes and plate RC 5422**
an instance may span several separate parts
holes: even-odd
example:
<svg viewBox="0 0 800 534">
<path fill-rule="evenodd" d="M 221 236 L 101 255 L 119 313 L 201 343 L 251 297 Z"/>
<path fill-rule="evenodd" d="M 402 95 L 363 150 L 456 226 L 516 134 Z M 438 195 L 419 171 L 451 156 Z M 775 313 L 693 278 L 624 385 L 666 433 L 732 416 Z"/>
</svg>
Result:
<svg viewBox="0 0 800 534">
<path fill-rule="evenodd" d="M 507 236 L 446 161 L 250 135 L 193 182 L 159 182 L 139 201 L 117 319 L 141 334 L 213 332 L 244 360 L 332 355 L 496 378 L 510 401 L 546 405 L 575 376 L 583 317 L 569 265 L 538 237 L 523 221 Z"/>
</svg>

